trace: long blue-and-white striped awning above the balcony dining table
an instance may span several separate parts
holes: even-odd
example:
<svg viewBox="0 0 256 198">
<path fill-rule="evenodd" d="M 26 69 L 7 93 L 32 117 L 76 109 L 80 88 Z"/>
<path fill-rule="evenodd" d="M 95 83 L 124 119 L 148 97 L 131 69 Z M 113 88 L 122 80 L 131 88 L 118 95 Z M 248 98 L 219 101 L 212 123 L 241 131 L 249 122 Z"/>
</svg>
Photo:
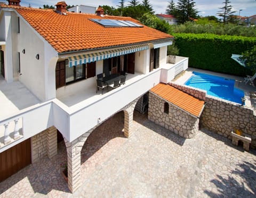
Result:
<svg viewBox="0 0 256 198">
<path fill-rule="evenodd" d="M 121 56 L 125 54 L 130 54 L 133 52 L 139 52 L 143 50 L 148 50 L 148 45 L 136 45 L 132 47 L 124 47 L 117 50 L 109 50 L 105 52 L 91 53 L 91 54 L 83 54 L 78 56 L 70 56 L 69 67 L 73 67 L 79 64 L 86 64 L 94 61 L 100 61 L 104 59 L 109 59 L 110 57 Z"/>
</svg>

